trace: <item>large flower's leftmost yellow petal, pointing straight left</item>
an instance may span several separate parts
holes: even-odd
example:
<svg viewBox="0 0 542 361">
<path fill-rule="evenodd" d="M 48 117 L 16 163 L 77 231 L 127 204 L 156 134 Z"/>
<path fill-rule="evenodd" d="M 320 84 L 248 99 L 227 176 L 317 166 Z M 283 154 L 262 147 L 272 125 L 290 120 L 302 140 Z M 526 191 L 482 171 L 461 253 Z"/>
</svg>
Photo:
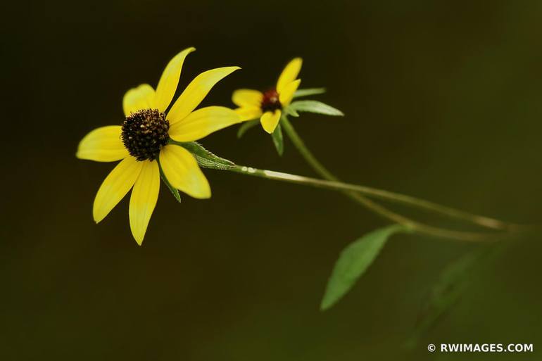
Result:
<svg viewBox="0 0 542 361">
<path fill-rule="evenodd" d="M 96 162 L 114 162 L 130 156 L 120 139 L 120 125 L 94 129 L 77 147 L 77 158 Z"/>
</svg>

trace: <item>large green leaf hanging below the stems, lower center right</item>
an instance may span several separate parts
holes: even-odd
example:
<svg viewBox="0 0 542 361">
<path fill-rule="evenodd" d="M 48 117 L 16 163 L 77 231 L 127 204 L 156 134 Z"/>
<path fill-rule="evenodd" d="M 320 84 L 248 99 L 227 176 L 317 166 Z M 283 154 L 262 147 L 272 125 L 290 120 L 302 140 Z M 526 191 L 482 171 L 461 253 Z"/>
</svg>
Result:
<svg viewBox="0 0 542 361">
<path fill-rule="evenodd" d="M 355 281 L 358 281 L 377 258 L 389 237 L 398 232 L 408 232 L 408 229 L 393 224 L 365 234 L 365 236 L 346 246 L 339 255 L 332 275 L 329 277 L 320 310 L 331 308 L 332 305 L 343 298 L 354 286 Z"/>
</svg>

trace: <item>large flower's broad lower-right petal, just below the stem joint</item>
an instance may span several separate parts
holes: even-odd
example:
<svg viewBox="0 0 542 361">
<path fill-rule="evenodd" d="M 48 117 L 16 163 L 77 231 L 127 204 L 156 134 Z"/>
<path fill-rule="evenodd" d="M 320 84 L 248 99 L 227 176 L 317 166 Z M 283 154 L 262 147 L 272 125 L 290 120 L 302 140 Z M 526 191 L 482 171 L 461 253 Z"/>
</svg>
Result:
<svg viewBox="0 0 542 361">
<path fill-rule="evenodd" d="M 196 162 L 196 158 L 181 146 L 169 145 L 160 151 L 160 165 L 170 184 L 194 198 L 210 198 L 207 178 Z"/>
</svg>

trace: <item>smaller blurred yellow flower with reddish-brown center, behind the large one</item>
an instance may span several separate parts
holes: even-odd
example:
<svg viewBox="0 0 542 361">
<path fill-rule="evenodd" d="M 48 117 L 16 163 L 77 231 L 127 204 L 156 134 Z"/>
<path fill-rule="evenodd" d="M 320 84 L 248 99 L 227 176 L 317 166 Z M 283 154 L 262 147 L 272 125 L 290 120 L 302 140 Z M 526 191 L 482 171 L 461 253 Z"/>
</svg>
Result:
<svg viewBox="0 0 542 361">
<path fill-rule="evenodd" d="M 265 132 L 271 134 L 279 124 L 282 109 L 289 106 L 294 93 L 299 87 L 301 79 L 296 79 L 301 70 L 301 58 L 290 61 L 277 82 L 277 87 L 262 93 L 253 89 L 239 89 L 234 91 L 232 101 L 239 108 L 237 113 L 242 120 L 260 118 Z"/>
</svg>

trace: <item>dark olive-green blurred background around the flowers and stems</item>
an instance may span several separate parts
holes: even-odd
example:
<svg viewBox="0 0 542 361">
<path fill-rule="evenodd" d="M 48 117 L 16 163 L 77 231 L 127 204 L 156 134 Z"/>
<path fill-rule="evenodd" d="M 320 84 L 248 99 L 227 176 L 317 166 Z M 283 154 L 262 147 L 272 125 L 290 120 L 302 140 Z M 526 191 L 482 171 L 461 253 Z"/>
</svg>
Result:
<svg viewBox="0 0 542 361">
<path fill-rule="evenodd" d="M 406 349 L 439 272 L 477 245 L 395 236 L 355 289 L 318 310 L 344 246 L 385 220 L 340 194 L 206 170 L 209 201 L 162 186 L 143 246 L 127 198 L 92 201 L 111 163 L 77 160 L 196 46 L 199 72 L 239 65 L 203 105 L 266 89 L 294 56 L 302 87 L 346 113 L 294 126 L 349 182 L 521 223 L 542 215 L 540 1 L 34 1 L 1 5 L 1 360 L 539 360 L 542 237 L 469 274 Z M 239 164 L 314 176 L 289 141 L 237 127 L 201 142 Z M 401 210 L 403 211 L 403 210 Z M 414 213 L 410 213 L 414 214 Z M 428 343 L 533 343 L 516 355 Z"/>
</svg>

